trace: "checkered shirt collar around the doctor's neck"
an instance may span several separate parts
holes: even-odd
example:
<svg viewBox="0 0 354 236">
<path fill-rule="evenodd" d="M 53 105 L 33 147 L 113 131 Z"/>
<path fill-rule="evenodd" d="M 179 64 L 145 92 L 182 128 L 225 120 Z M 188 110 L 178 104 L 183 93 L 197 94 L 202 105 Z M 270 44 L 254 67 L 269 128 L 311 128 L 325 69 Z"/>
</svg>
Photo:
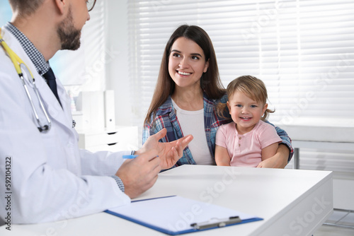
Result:
<svg viewBox="0 0 354 236">
<path fill-rule="evenodd" d="M 40 51 L 35 48 L 35 45 L 33 45 L 33 43 L 28 40 L 28 37 L 25 37 L 25 35 L 23 35 L 23 33 L 11 23 L 8 22 L 5 25 L 5 28 L 16 37 L 18 42 L 20 42 L 23 50 L 25 50 L 25 53 L 28 55 L 28 57 L 30 57 L 30 60 L 35 65 L 35 69 L 37 69 L 38 73 L 41 76 L 45 74 L 50 69 L 50 66 L 47 61 L 45 61 L 45 58 L 40 53 Z"/>
</svg>

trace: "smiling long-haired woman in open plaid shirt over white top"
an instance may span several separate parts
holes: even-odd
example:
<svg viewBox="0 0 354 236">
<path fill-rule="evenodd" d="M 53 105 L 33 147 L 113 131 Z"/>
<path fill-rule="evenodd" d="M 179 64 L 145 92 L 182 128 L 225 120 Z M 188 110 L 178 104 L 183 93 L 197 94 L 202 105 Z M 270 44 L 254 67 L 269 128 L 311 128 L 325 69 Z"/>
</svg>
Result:
<svg viewBox="0 0 354 236">
<path fill-rule="evenodd" d="M 163 128 L 167 134 L 162 142 L 192 134 L 193 141 L 176 166 L 215 165 L 215 134 L 229 120 L 216 112 L 219 102 L 227 102 L 225 93 L 209 35 L 198 26 L 181 25 L 164 50 L 154 96 L 144 120 L 143 143 Z M 291 159 L 290 138 L 281 129 L 277 128 L 277 132 L 285 145 L 280 145 L 277 154 L 258 167 L 285 167 Z"/>
</svg>

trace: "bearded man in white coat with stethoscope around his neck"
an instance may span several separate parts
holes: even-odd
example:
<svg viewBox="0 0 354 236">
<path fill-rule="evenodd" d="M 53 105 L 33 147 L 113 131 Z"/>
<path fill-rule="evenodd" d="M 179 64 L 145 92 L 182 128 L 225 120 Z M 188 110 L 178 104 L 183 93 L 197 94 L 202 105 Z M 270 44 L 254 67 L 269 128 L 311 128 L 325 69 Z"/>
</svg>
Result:
<svg viewBox="0 0 354 236">
<path fill-rule="evenodd" d="M 81 28 L 96 1 L 9 2 L 13 18 L 1 28 L 0 40 L 10 48 L 5 50 L 1 42 L 0 219 L 42 223 L 129 204 L 131 198 L 154 185 L 161 169 L 181 158 L 193 137 L 159 143 L 166 134 L 163 130 L 149 138 L 133 160 L 122 159 L 132 151 L 79 150 L 69 97 L 59 81 L 53 86 L 47 61 L 60 49 L 79 48 Z M 24 82 L 15 68 L 18 61 L 23 62 L 20 73 Z"/>
</svg>

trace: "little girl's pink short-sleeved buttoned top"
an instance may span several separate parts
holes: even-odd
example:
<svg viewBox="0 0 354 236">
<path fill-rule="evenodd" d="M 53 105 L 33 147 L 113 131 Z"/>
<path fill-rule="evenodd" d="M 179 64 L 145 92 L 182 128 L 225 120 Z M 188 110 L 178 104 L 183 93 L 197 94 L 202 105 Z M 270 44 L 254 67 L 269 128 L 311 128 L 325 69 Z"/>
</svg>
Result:
<svg viewBox="0 0 354 236">
<path fill-rule="evenodd" d="M 261 120 L 247 134 L 239 134 L 234 122 L 224 124 L 215 138 L 216 145 L 227 148 L 231 166 L 245 167 L 256 167 L 262 161 L 262 149 L 281 141 L 274 126 Z"/>
</svg>

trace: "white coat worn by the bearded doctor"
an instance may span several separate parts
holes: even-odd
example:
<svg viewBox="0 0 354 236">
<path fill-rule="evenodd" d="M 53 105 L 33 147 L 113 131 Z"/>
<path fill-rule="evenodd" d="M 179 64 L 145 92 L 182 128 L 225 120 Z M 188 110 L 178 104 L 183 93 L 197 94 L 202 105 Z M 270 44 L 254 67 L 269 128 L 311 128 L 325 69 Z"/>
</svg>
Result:
<svg viewBox="0 0 354 236">
<path fill-rule="evenodd" d="M 16 38 L 5 28 L 1 35 L 33 73 L 52 128 L 46 134 L 38 131 L 21 80 L 0 47 L 0 217 L 7 222 L 10 215 L 11 223 L 41 223 L 130 203 L 115 179 L 109 177 L 122 164 L 122 155 L 130 151 L 80 150 L 78 134 L 72 128 L 69 96 L 62 84 L 57 80 L 61 107 Z M 38 99 L 33 89 L 29 90 L 43 121 Z M 6 174 L 11 175 L 8 189 Z M 11 201 L 7 201 L 8 196 Z"/>
</svg>

